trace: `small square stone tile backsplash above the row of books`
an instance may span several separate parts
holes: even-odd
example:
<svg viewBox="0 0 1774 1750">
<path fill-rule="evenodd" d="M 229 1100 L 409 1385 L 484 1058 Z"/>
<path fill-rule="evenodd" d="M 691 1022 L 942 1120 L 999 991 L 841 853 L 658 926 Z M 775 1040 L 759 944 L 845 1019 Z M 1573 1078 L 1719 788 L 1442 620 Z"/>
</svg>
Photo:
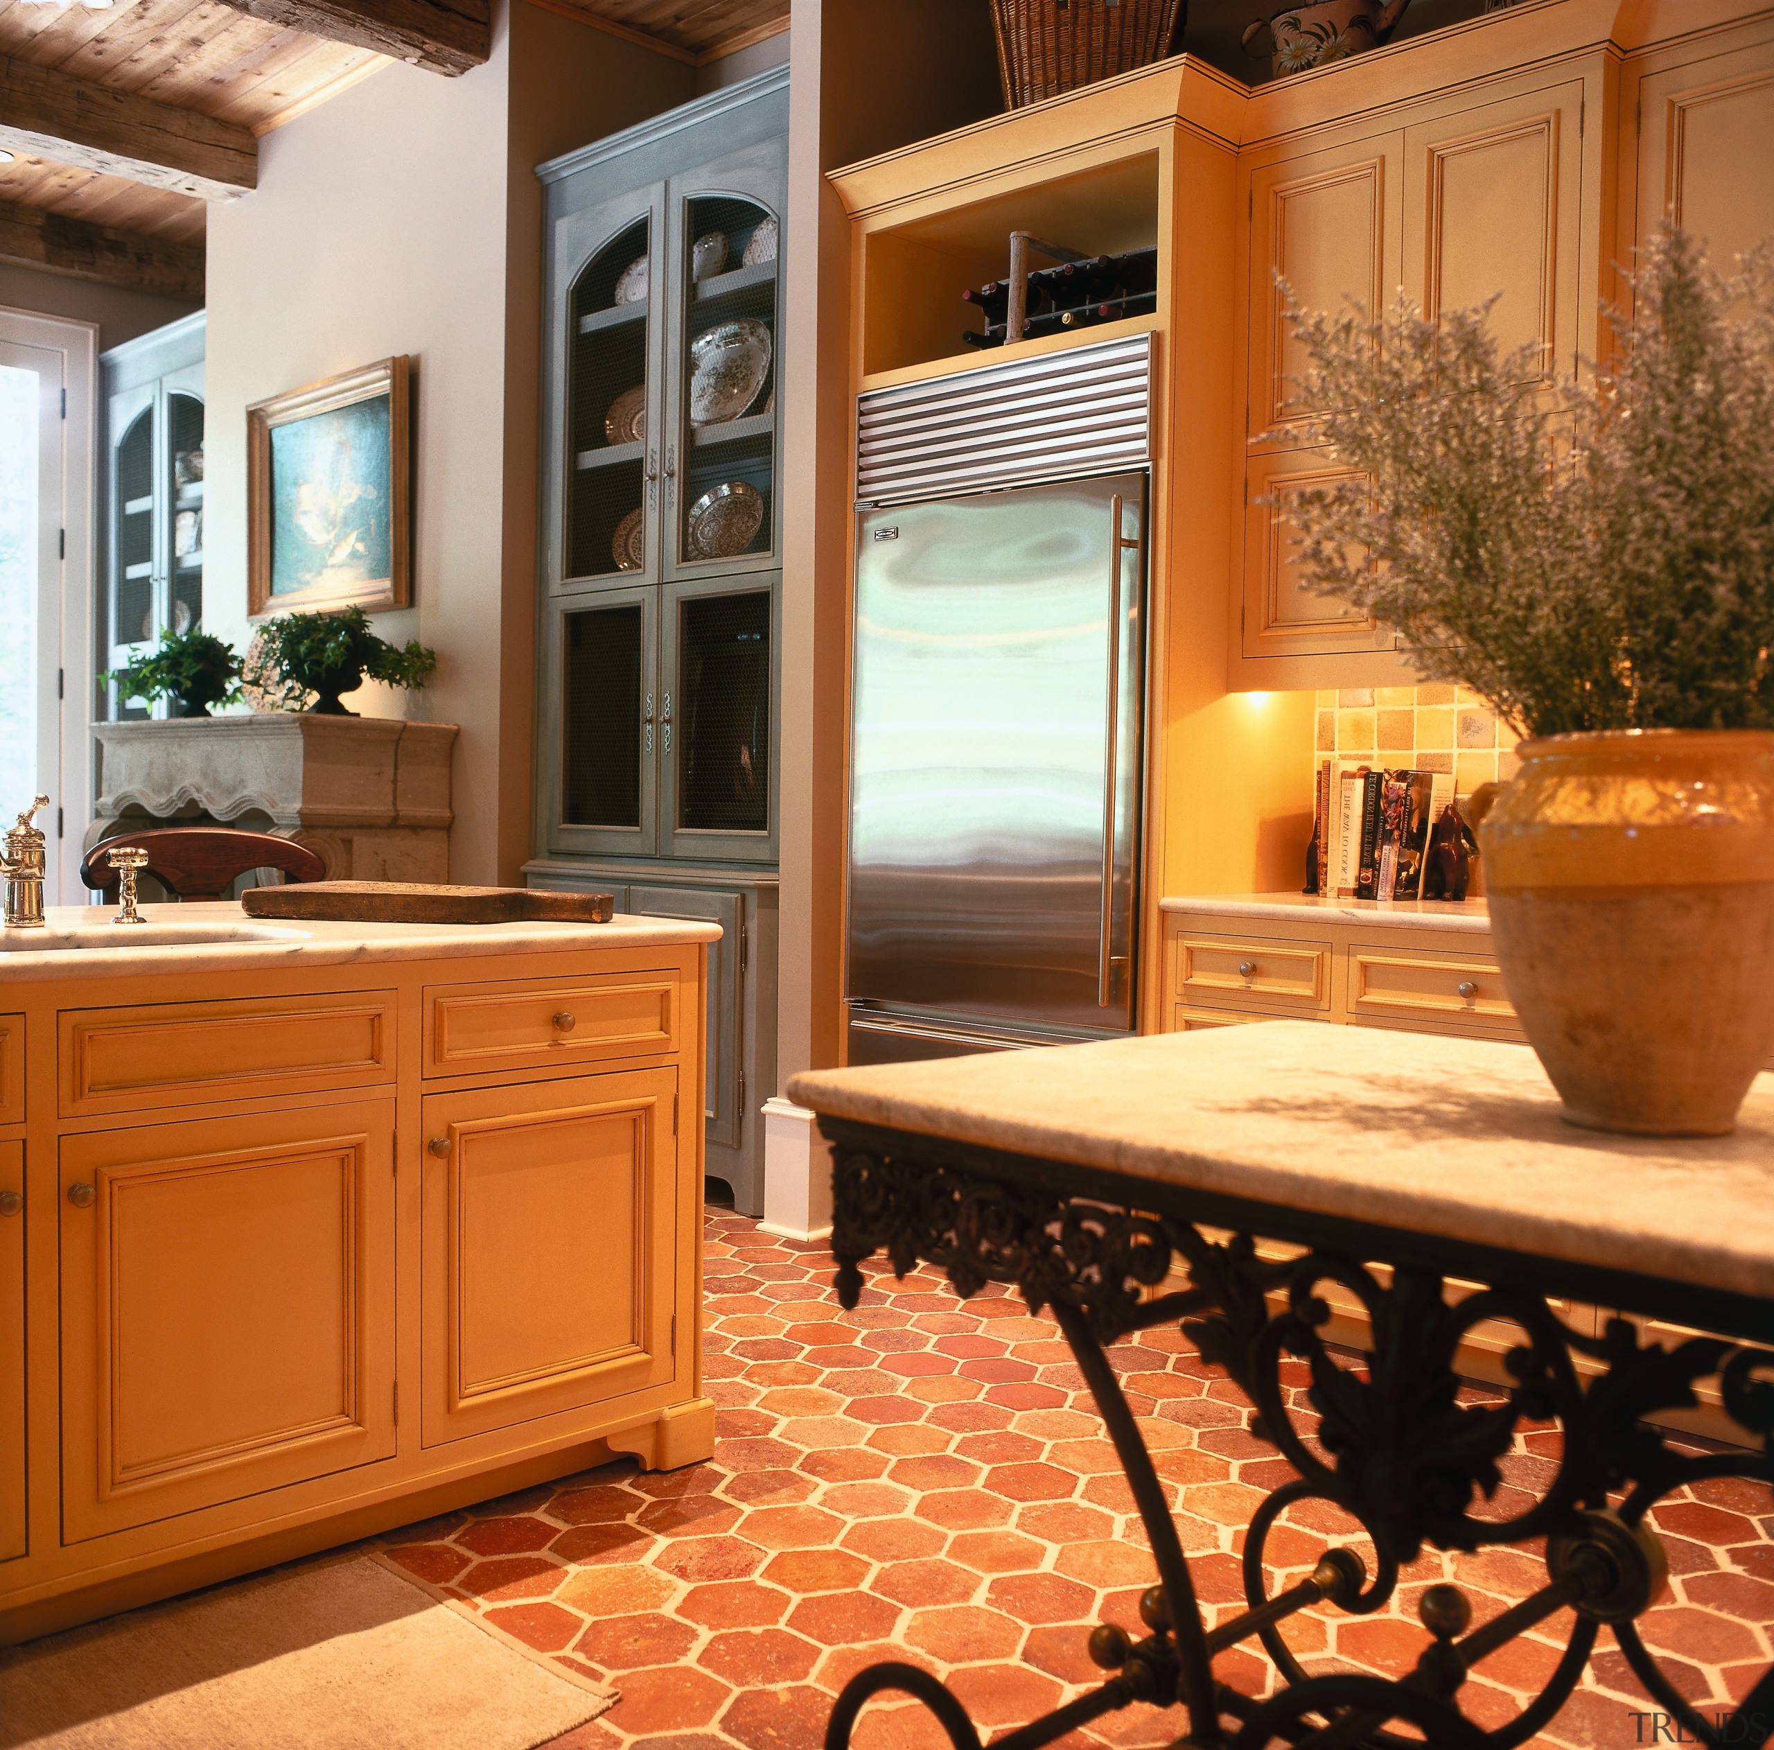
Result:
<svg viewBox="0 0 1774 1750">
<path fill-rule="evenodd" d="M 1471 687 L 1425 682 L 1419 687 L 1343 687 L 1320 690 L 1316 756 L 1409 765 L 1451 772 L 1455 792 L 1513 777 L 1515 731 Z"/>
</svg>

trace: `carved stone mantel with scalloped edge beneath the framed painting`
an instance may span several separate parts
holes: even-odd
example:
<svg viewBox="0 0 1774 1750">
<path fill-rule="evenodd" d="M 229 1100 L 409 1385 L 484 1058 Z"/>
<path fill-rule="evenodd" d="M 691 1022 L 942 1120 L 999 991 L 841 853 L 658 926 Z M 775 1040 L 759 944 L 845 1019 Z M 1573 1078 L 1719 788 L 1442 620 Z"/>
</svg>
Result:
<svg viewBox="0 0 1774 1750">
<path fill-rule="evenodd" d="M 332 880 L 449 880 L 452 722 L 261 712 L 92 735 L 83 850 L 144 825 L 234 825 L 307 845 Z"/>
</svg>

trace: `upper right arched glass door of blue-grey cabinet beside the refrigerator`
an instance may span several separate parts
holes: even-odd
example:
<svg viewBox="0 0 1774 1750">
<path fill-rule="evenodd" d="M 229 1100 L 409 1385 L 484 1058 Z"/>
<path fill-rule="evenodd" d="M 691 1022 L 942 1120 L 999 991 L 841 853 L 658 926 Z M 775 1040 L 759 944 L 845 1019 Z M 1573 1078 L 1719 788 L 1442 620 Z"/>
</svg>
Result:
<svg viewBox="0 0 1774 1750">
<path fill-rule="evenodd" d="M 784 140 L 674 176 L 663 577 L 781 564 L 777 337 Z"/>
</svg>

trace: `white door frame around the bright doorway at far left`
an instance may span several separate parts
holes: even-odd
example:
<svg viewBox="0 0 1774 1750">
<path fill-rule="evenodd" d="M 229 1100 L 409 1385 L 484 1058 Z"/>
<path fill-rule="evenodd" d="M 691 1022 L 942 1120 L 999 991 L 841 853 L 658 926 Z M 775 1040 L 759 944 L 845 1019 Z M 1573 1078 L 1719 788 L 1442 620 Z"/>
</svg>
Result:
<svg viewBox="0 0 1774 1750">
<path fill-rule="evenodd" d="M 55 760 L 59 784 L 50 793 L 59 831 L 48 836 L 44 902 L 85 905 L 90 895 L 80 884 L 78 847 L 92 824 L 98 795 L 98 648 L 94 639 L 94 541 L 98 529 L 98 353 L 99 327 L 62 316 L 43 316 L 0 305 L 0 339 L 37 346 L 62 355 L 62 387 L 67 408 L 62 417 L 62 625 L 60 625 L 60 749 Z M 20 806 L 25 806 L 25 797 Z M 66 854 L 73 850 L 73 854 Z"/>
</svg>

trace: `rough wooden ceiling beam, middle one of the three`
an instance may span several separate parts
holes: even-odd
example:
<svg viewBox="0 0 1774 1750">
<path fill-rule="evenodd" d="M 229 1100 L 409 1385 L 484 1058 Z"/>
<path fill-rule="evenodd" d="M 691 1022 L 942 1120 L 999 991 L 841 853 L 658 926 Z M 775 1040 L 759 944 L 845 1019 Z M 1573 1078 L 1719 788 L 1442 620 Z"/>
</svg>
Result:
<svg viewBox="0 0 1774 1750">
<path fill-rule="evenodd" d="M 200 201 L 232 201 L 259 181 L 247 128 L 4 55 L 0 146 Z"/>
</svg>

